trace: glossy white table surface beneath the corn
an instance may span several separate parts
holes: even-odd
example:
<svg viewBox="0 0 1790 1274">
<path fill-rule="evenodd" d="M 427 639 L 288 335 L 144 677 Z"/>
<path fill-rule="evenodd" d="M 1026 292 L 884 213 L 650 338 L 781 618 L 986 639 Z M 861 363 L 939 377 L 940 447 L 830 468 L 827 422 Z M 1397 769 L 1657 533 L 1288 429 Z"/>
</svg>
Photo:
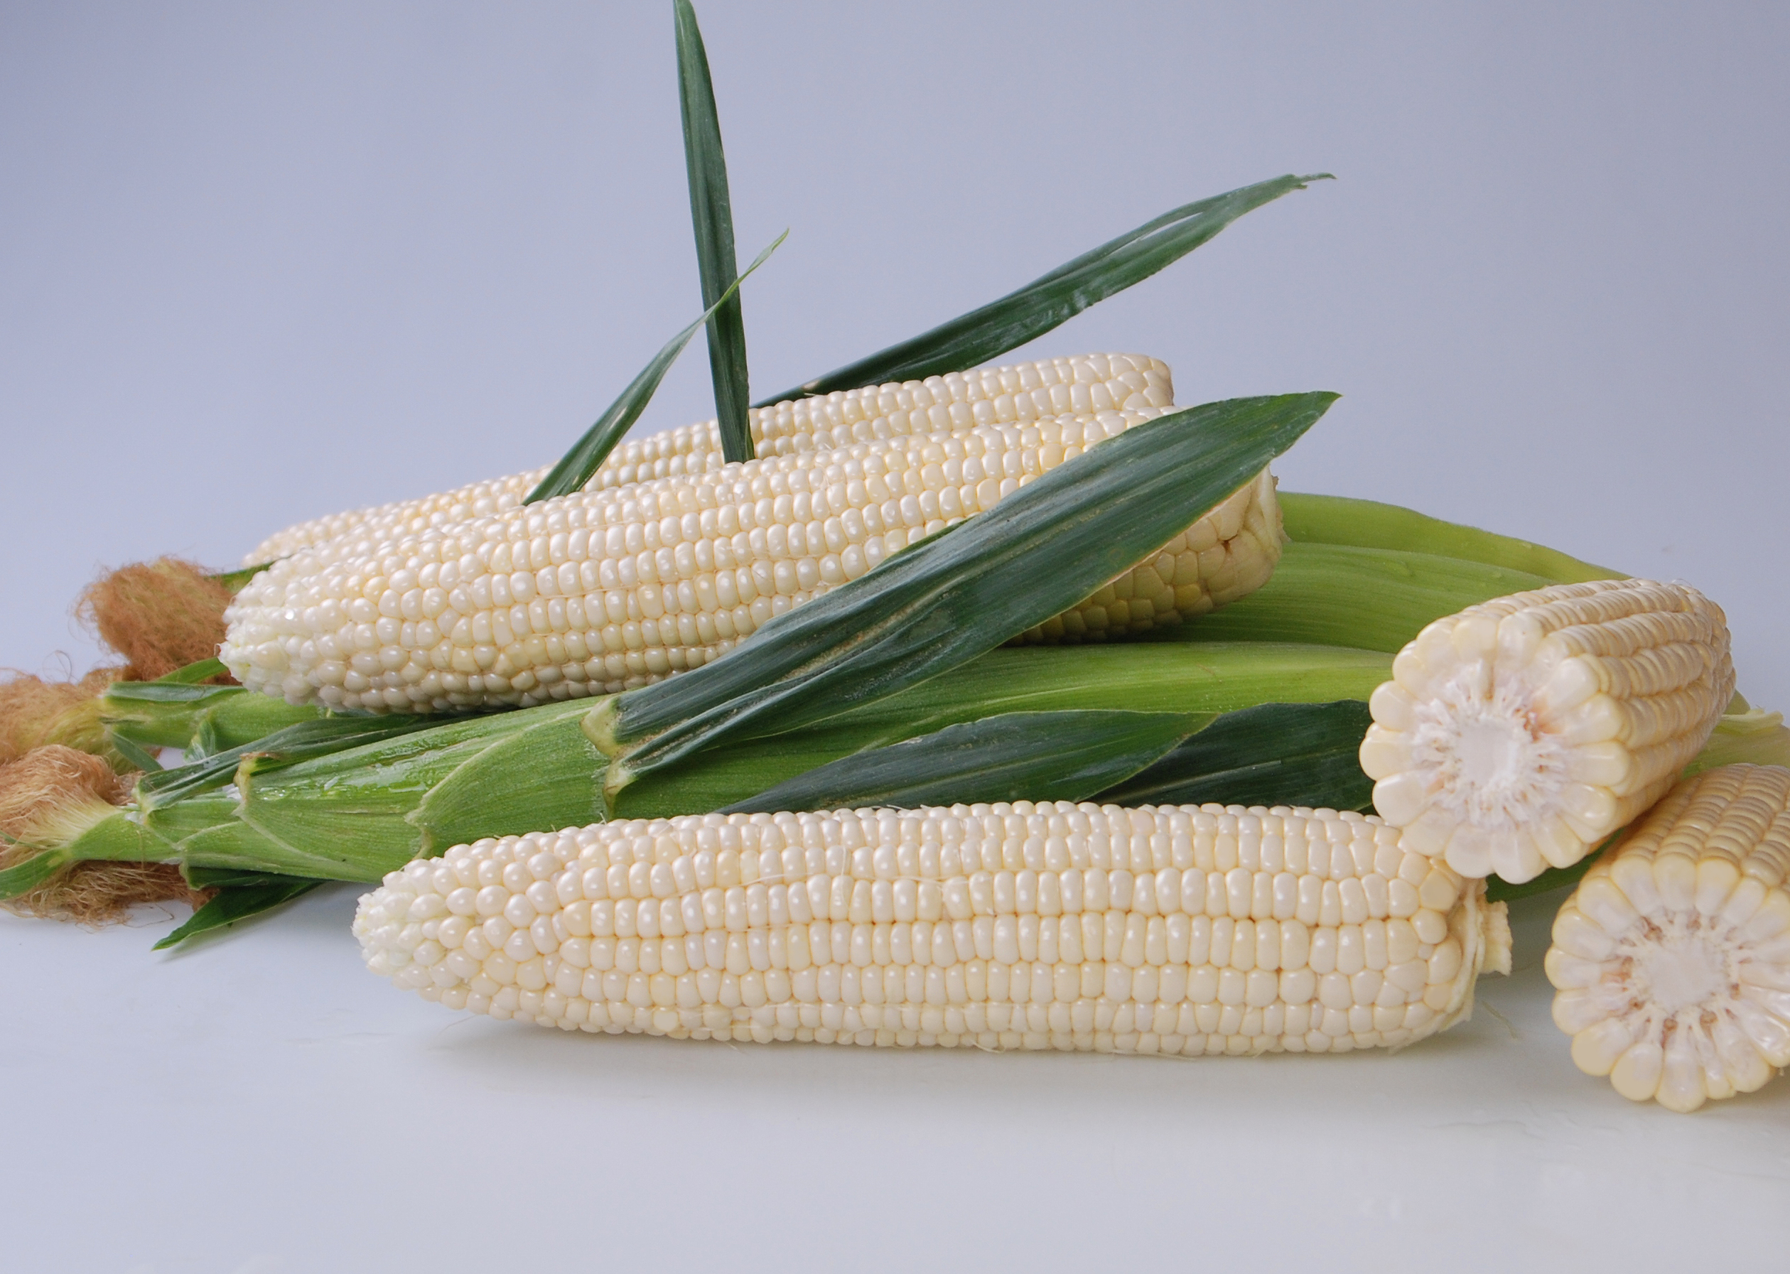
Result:
<svg viewBox="0 0 1790 1274">
<path fill-rule="evenodd" d="M 367 973 L 354 891 L 175 956 L 0 918 L 4 1269 L 1783 1269 L 1790 1083 L 1681 1117 L 1516 970 L 1400 1054 L 564 1034 Z M 29 977 L 25 972 L 29 970 Z"/>
</svg>

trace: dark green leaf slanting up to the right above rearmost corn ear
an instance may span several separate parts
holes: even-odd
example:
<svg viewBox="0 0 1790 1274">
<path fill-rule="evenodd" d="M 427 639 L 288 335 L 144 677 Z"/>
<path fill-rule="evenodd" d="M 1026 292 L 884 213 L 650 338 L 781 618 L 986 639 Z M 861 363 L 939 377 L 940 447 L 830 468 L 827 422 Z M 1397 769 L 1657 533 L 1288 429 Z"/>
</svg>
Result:
<svg viewBox="0 0 1790 1274">
<path fill-rule="evenodd" d="M 1027 340 L 1069 322 L 1088 306 L 1180 261 L 1244 213 L 1292 190 L 1305 190 L 1307 183 L 1328 175 L 1274 177 L 1183 204 L 1072 261 L 1065 261 L 1019 292 L 1010 292 L 999 301 L 958 315 L 950 322 L 856 363 L 847 363 L 793 390 L 763 399 L 757 406 L 807 397 L 809 394 L 854 390 L 863 385 L 925 379 L 984 363 L 1010 349 L 1019 349 Z"/>
</svg>

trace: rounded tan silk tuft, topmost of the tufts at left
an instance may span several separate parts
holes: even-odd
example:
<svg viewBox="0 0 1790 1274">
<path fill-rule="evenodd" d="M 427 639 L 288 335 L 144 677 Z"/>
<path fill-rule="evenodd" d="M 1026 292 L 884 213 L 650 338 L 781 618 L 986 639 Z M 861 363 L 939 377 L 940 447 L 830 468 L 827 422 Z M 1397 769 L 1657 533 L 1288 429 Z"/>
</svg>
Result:
<svg viewBox="0 0 1790 1274">
<path fill-rule="evenodd" d="M 179 558 L 118 567 L 95 580 L 77 605 L 82 623 L 131 660 L 131 680 L 152 682 L 218 653 L 231 594 Z"/>
</svg>

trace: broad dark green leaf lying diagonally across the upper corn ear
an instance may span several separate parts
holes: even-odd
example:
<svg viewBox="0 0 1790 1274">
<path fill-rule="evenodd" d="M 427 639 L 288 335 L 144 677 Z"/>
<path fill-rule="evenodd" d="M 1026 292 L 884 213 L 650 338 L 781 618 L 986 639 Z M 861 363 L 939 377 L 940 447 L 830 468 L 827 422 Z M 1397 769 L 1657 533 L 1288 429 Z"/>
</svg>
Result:
<svg viewBox="0 0 1790 1274">
<path fill-rule="evenodd" d="M 1171 540 L 1334 401 L 1232 399 L 1140 424 L 771 619 L 725 658 L 605 700 L 585 728 L 616 757 L 607 789 L 725 737 L 793 730 L 993 650 Z"/>
</svg>

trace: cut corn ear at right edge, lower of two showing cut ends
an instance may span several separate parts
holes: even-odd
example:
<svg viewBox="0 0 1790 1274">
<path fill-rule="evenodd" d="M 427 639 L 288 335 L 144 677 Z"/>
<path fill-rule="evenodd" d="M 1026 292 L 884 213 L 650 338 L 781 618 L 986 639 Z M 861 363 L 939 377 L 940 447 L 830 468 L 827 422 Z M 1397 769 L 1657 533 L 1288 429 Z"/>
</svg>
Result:
<svg viewBox="0 0 1790 1274">
<path fill-rule="evenodd" d="M 1604 854 L 1548 948 L 1572 1059 L 1675 1111 L 1790 1065 L 1790 769 L 1686 778 Z"/>
</svg>

